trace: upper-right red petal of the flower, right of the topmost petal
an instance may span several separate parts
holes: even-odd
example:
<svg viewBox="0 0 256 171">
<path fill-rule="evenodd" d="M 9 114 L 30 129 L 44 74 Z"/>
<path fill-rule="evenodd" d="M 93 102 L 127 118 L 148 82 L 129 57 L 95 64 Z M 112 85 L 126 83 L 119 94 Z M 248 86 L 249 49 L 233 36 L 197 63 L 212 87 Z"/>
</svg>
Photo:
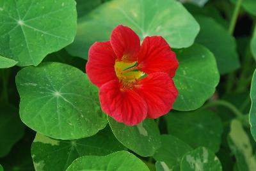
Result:
<svg viewBox="0 0 256 171">
<path fill-rule="evenodd" d="M 164 38 L 152 36 L 143 40 L 138 65 L 139 70 L 145 73 L 166 72 L 174 77 L 179 62 Z"/>
</svg>

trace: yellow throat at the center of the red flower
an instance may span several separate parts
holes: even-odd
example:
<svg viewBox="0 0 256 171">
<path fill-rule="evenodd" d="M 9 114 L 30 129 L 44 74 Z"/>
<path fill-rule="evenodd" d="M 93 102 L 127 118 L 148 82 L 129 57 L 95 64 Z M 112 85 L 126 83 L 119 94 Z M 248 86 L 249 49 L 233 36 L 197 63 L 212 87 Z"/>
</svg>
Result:
<svg viewBox="0 0 256 171">
<path fill-rule="evenodd" d="M 129 89 L 138 84 L 138 80 L 144 76 L 144 73 L 138 70 L 137 62 L 116 61 L 115 71 L 122 85 Z"/>
</svg>

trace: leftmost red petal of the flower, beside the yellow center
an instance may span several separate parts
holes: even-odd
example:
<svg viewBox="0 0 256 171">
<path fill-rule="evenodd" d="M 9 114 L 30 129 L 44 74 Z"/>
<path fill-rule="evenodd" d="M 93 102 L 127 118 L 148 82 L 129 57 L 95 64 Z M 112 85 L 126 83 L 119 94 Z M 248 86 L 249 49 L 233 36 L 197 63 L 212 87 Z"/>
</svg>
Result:
<svg viewBox="0 0 256 171">
<path fill-rule="evenodd" d="M 100 87 L 110 80 L 117 80 L 115 60 L 115 52 L 109 41 L 95 42 L 90 47 L 88 63 L 86 64 L 86 73 L 91 82 Z"/>
</svg>

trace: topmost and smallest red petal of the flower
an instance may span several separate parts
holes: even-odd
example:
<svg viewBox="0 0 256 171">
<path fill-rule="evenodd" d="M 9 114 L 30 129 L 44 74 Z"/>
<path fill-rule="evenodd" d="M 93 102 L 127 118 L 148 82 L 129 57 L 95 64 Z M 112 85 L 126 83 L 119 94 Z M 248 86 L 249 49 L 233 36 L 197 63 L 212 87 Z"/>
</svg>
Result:
<svg viewBox="0 0 256 171">
<path fill-rule="evenodd" d="M 120 61 L 137 61 L 140 52 L 140 38 L 129 27 L 119 25 L 113 29 L 111 46 Z"/>
</svg>

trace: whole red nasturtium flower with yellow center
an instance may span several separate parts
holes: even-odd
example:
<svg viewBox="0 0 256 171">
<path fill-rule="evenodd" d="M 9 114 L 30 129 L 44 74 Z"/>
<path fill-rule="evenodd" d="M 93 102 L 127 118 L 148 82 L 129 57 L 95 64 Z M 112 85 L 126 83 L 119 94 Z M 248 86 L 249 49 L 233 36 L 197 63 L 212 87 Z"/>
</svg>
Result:
<svg viewBox="0 0 256 171">
<path fill-rule="evenodd" d="M 140 38 L 117 26 L 110 41 L 95 42 L 89 50 L 86 73 L 99 87 L 103 112 L 127 125 L 167 114 L 178 96 L 172 78 L 179 66 L 175 53 L 161 36 Z"/>
</svg>

